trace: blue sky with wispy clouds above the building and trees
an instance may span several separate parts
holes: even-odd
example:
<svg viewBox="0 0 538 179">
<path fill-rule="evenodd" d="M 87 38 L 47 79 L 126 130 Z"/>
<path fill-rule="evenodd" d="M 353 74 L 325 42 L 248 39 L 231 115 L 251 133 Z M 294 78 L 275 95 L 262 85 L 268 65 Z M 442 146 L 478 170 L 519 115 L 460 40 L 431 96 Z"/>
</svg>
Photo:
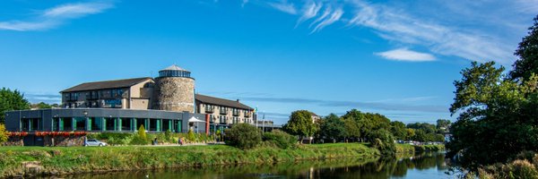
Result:
<svg viewBox="0 0 538 179">
<path fill-rule="evenodd" d="M 472 61 L 509 70 L 536 14 L 538 0 L 4 0 L 0 87 L 60 103 L 82 82 L 177 64 L 196 93 L 239 98 L 275 124 L 353 108 L 455 121 L 459 72 Z"/>
</svg>

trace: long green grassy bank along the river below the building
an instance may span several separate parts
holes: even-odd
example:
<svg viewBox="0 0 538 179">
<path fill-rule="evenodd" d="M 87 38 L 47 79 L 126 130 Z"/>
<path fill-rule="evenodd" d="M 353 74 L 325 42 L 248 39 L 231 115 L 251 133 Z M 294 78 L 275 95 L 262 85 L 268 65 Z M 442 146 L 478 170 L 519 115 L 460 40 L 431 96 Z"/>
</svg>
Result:
<svg viewBox="0 0 538 179">
<path fill-rule="evenodd" d="M 0 148 L 0 177 L 65 175 L 181 166 L 260 164 L 326 158 L 377 158 L 360 143 L 241 150 L 225 145 L 189 147 Z"/>
</svg>

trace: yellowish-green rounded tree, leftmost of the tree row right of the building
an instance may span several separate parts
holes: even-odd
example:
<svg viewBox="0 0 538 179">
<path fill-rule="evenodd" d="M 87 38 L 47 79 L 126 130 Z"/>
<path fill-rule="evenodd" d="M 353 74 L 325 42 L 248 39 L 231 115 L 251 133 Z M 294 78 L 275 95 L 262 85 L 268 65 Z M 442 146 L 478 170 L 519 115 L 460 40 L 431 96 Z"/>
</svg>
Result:
<svg viewBox="0 0 538 179">
<path fill-rule="evenodd" d="M 298 135 L 300 141 L 305 137 L 313 136 L 317 126 L 312 122 L 312 113 L 307 110 L 299 110 L 291 113 L 290 120 L 282 126 L 284 132 Z"/>
</svg>

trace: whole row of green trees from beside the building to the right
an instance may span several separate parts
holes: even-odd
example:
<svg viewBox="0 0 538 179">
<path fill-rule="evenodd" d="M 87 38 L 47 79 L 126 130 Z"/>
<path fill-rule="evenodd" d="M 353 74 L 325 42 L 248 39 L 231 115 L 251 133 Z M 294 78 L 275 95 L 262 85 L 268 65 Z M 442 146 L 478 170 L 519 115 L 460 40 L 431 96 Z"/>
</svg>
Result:
<svg viewBox="0 0 538 179">
<path fill-rule="evenodd" d="M 436 124 L 404 124 L 391 122 L 385 115 L 363 113 L 351 109 L 345 115 L 326 115 L 320 120 L 313 120 L 312 113 L 298 110 L 291 113 L 290 120 L 282 126 L 285 132 L 299 136 L 303 141 L 313 137 L 317 142 L 373 141 L 378 133 L 389 134 L 400 141 L 445 141 L 444 134 L 450 121 L 439 119 Z"/>
</svg>

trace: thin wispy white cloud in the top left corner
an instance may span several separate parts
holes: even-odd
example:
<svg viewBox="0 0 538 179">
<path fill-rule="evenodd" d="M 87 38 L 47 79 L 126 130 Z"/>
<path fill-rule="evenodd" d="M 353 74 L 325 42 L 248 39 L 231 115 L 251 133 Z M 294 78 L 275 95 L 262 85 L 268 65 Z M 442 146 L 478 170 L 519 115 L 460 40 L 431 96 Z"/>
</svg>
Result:
<svg viewBox="0 0 538 179">
<path fill-rule="evenodd" d="M 86 15 L 102 13 L 111 8 L 111 3 L 79 3 L 62 4 L 47 9 L 38 16 L 30 17 L 31 20 L 0 21 L 0 30 L 49 30 L 65 23 L 65 21 L 81 18 Z"/>
</svg>

